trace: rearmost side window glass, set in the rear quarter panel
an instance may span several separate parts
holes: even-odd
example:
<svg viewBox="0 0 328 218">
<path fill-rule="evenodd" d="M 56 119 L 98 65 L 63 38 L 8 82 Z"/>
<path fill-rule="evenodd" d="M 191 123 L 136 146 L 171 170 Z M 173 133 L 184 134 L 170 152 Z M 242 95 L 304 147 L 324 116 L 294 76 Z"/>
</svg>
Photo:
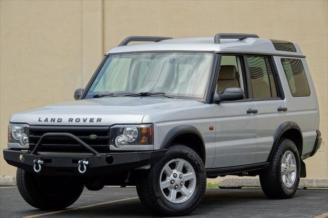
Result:
<svg viewBox="0 0 328 218">
<path fill-rule="evenodd" d="M 300 59 L 281 58 L 289 89 L 293 97 L 310 96 L 308 78 Z"/>
</svg>

